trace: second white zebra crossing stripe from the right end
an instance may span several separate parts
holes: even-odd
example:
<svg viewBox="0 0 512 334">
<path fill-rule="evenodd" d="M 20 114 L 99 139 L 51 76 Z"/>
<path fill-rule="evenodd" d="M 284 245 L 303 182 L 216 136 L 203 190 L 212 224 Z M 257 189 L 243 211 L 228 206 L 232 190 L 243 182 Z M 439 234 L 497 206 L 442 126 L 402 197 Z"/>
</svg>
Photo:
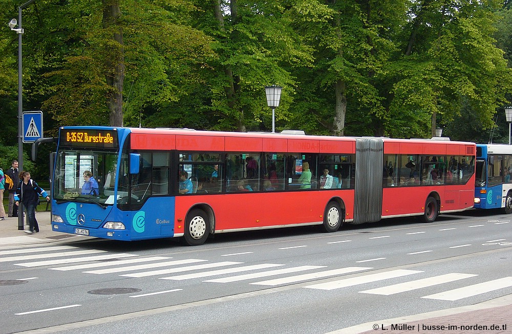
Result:
<svg viewBox="0 0 512 334">
<path fill-rule="evenodd" d="M 458 274 L 458 273 L 452 273 L 452 274 L 446 274 L 446 275 L 440 275 L 435 277 L 429 277 L 429 278 L 423 278 L 418 279 L 415 281 L 405 282 L 405 283 L 399 283 L 389 286 L 383 286 L 378 287 L 371 290 L 365 290 L 365 291 L 359 291 L 362 294 L 373 294 L 373 295 L 394 295 L 401 292 L 416 290 L 422 287 L 447 283 L 447 282 L 453 282 L 457 281 L 459 279 L 464 279 L 468 277 L 473 277 L 478 275 L 473 274 Z"/>
</svg>

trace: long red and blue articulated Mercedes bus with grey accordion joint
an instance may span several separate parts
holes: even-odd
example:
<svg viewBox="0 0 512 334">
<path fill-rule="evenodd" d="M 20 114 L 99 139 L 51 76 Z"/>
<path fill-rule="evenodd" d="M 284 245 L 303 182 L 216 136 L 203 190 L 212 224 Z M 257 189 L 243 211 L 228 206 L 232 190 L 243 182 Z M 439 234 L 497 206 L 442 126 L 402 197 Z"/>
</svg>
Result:
<svg viewBox="0 0 512 334">
<path fill-rule="evenodd" d="M 431 222 L 473 208 L 475 152 L 466 142 L 301 131 L 61 127 L 52 228 L 199 245 L 233 231 Z"/>
</svg>

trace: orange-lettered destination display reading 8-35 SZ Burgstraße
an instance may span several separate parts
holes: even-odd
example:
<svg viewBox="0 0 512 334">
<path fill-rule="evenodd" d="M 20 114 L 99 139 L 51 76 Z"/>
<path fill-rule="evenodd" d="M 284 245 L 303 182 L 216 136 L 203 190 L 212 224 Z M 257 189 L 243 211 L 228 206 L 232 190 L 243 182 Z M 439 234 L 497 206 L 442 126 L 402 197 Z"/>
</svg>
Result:
<svg viewBox="0 0 512 334">
<path fill-rule="evenodd" d="M 60 144 L 81 147 L 118 147 L 117 131 L 98 129 L 61 129 Z"/>
</svg>

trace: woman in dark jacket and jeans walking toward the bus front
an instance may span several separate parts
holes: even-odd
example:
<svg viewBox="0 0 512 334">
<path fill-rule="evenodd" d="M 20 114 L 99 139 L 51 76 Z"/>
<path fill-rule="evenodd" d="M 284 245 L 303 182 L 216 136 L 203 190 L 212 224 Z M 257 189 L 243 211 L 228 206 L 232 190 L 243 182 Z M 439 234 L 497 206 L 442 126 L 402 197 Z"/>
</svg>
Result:
<svg viewBox="0 0 512 334">
<path fill-rule="evenodd" d="M 39 204 L 39 195 L 46 197 L 46 201 L 50 201 L 48 193 L 39 187 L 37 183 L 30 179 L 30 173 L 23 171 L 19 173 L 19 185 L 14 193 L 14 201 L 16 205 L 22 202 L 27 208 L 27 219 L 29 221 L 29 230 L 26 233 L 32 234 L 39 232 L 39 224 L 35 219 L 35 208 Z"/>
</svg>

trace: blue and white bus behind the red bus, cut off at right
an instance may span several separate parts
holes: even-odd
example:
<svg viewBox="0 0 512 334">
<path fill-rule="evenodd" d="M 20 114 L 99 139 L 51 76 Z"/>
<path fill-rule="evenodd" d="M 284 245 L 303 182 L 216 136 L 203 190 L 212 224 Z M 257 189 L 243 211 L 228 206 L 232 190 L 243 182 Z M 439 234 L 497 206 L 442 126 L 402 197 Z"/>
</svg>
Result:
<svg viewBox="0 0 512 334">
<path fill-rule="evenodd" d="M 475 208 L 503 208 L 512 213 L 512 146 L 478 144 Z"/>
</svg>

